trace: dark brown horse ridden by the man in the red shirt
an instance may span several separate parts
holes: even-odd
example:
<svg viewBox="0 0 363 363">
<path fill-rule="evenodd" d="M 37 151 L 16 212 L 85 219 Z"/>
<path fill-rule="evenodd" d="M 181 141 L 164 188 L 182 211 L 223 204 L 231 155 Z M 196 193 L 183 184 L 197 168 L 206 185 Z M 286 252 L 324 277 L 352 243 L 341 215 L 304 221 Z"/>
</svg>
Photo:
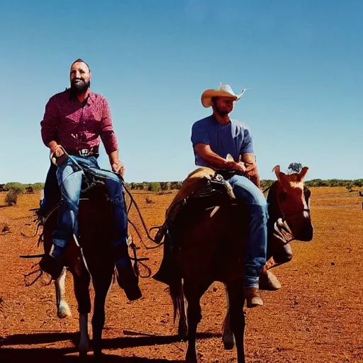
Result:
<svg viewBox="0 0 363 363">
<path fill-rule="evenodd" d="M 50 251 L 52 232 L 57 224 L 57 209 L 43 225 L 45 253 Z M 84 356 L 90 348 L 88 314 L 91 311 L 89 283 L 94 286 L 94 314 L 92 317 L 93 350 L 95 359 L 102 355 L 101 337 L 105 321 L 105 301 L 114 272 L 111 253 L 113 217 L 111 202 L 106 199 L 106 188 L 96 185 L 82 194 L 79 202 L 79 239 L 69 241 L 63 263 L 73 275 L 74 294 L 79 311 L 79 354 Z M 64 299 L 65 270 L 55 281 L 57 314 L 60 318 L 70 315 Z"/>
</svg>

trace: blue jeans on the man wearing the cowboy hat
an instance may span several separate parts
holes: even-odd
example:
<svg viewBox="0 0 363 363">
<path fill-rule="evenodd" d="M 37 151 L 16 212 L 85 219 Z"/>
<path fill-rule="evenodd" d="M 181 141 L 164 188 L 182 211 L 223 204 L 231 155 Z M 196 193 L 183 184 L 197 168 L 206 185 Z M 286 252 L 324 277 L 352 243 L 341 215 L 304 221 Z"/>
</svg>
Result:
<svg viewBox="0 0 363 363">
<path fill-rule="evenodd" d="M 259 274 L 266 263 L 267 254 L 267 201 L 255 184 L 240 175 L 228 179 L 235 197 L 242 201 L 250 214 L 245 250 L 245 287 L 258 286 Z"/>
</svg>

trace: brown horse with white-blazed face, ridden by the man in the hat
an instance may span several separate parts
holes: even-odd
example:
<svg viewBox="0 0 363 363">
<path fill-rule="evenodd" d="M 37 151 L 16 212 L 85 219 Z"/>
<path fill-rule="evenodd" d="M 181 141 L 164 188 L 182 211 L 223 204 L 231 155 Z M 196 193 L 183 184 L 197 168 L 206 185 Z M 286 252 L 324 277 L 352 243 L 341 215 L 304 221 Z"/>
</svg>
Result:
<svg viewBox="0 0 363 363">
<path fill-rule="evenodd" d="M 277 181 L 269 189 L 268 262 L 267 269 L 291 259 L 286 245 L 291 240 L 310 241 L 313 238 L 309 196 L 303 185 L 308 171 L 286 175 L 274 168 Z M 201 186 L 203 189 L 203 186 Z M 219 197 L 218 197 L 219 198 Z M 169 235 L 177 252 L 177 268 L 172 274 L 170 294 L 174 318 L 179 314 L 179 335 L 187 327 L 186 362 L 196 363 L 196 330 L 201 320 L 201 296 L 213 281 L 225 284 L 228 313 L 223 329 L 226 349 L 237 347 L 238 363 L 245 362 L 245 296 L 242 289 L 242 263 L 248 216 L 242 205 L 216 201 L 211 197 L 191 197 L 180 211 Z M 187 301 L 187 314 L 184 309 Z M 187 324 L 186 324 L 187 323 Z"/>
</svg>

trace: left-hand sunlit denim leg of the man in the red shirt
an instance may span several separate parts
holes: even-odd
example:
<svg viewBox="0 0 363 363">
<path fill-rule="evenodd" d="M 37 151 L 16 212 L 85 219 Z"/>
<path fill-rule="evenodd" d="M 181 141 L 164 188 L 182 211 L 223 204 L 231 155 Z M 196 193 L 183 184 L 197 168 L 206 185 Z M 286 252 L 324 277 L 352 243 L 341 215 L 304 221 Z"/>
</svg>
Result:
<svg viewBox="0 0 363 363">
<path fill-rule="evenodd" d="M 57 180 L 62 193 L 62 202 L 58 216 L 57 228 L 53 232 L 51 254 L 57 258 L 62 255 L 72 235 L 78 237 L 78 206 L 82 185 L 82 172 L 74 169 L 68 160 L 57 169 Z"/>
</svg>

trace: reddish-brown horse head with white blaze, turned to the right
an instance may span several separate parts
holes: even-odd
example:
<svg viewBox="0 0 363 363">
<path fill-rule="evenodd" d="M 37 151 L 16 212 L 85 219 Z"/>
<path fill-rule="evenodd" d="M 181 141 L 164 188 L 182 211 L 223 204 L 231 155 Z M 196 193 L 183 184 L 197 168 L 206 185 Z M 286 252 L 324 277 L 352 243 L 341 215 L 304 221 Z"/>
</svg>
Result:
<svg viewBox="0 0 363 363">
<path fill-rule="evenodd" d="M 274 223 L 274 235 L 284 243 L 291 240 L 309 242 L 313 239 L 310 214 L 311 191 L 304 185 L 308 167 L 300 172 L 285 174 L 279 165 L 273 171 L 277 181 L 269 191 L 269 216 Z"/>
</svg>

